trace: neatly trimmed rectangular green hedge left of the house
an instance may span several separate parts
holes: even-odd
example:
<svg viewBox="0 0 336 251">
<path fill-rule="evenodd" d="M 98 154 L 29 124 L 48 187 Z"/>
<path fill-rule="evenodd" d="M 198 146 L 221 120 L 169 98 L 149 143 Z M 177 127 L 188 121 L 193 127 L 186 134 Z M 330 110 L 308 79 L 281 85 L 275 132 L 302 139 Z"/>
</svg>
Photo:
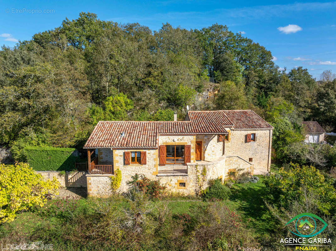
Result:
<svg viewBox="0 0 336 251">
<path fill-rule="evenodd" d="M 75 148 L 60 147 L 26 147 L 27 161 L 36 171 L 71 171 L 79 156 L 72 153 Z"/>
</svg>

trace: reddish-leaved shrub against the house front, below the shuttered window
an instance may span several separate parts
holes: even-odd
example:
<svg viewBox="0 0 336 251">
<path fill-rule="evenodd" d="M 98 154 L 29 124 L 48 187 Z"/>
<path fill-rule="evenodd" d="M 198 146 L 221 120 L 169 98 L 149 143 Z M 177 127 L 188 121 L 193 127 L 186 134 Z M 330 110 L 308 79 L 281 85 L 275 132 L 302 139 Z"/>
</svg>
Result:
<svg viewBox="0 0 336 251">
<path fill-rule="evenodd" d="M 130 191 L 140 191 L 149 195 L 151 198 L 159 198 L 166 187 L 160 185 L 160 181 L 150 180 L 143 174 L 135 174 L 131 177 L 132 180 L 127 184 L 130 186 Z"/>
</svg>

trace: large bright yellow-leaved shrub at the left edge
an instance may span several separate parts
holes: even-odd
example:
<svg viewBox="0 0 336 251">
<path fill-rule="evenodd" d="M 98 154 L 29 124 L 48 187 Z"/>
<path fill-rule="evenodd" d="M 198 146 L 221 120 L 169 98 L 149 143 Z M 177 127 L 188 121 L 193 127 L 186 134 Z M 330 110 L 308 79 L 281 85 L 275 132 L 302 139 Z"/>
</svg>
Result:
<svg viewBox="0 0 336 251">
<path fill-rule="evenodd" d="M 59 186 L 55 177 L 43 181 L 26 163 L 0 164 L 0 222 L 12 221 L 17 211 L 42 207 L 48 192 L 56 192 Z"/>
</svg>

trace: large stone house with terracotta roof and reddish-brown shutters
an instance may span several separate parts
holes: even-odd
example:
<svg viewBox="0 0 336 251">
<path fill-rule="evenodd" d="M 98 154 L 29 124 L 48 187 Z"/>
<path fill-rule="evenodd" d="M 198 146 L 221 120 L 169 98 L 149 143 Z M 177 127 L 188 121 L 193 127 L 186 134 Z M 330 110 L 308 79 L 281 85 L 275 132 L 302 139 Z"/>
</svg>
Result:
<svg viewBox="0 0 336 251">
<path fill-rule="evenodd" d="M 121 191 L 135 173 L 160 179 L 172 191 L 193 193 L 196 175 L 225 179 L 233 172 L 269 171 L 272 126 L 252 110 L 188 111 L 184 121 L 99 121 L 88 151 L 89 195 L 109 193 L 122 173 Z"/>
</svg>

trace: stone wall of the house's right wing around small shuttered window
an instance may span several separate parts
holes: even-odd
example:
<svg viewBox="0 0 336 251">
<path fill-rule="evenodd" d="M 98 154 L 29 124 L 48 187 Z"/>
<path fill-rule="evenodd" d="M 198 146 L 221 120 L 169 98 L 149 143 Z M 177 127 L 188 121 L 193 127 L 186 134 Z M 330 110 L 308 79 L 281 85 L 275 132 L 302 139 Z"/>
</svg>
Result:
<svg viewBox="0 0 336 251">
<path fill-rule="evenodd" d="M 246 142 L 246 134 L 255 133 L 257 141 Z M 231 140 L 225 141 L 224 154 L 252 158 L 254 168 L 268 169 L 270 165 L 271 130 L 231 130 Z"/>
</svg>

